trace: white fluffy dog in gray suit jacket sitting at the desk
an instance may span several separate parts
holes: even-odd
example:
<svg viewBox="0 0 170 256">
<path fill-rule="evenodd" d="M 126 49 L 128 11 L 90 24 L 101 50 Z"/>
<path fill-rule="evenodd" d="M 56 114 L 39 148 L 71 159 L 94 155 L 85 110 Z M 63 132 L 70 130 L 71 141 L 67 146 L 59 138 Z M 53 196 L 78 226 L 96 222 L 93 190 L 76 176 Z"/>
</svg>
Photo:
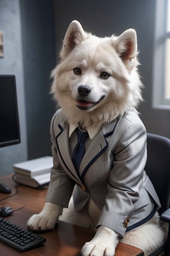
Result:
<svg viewBox="0 0 170 256">
<path fill-rule="evenodd" d="M 96 230 L 83 256 L 113 256 L 119 239 L 146 255 L 165 234 L 159 199 L 143 170 L 146 130 L 135 110 L 142 100 L 136 33 L 99 38 L 73 21 L 60 56 L 52 74 L 52 93 L 61 106 L 50 127 L 54 167 L 44 209 L 29 219 L 28 228 L 53 229 L 60 217 Z M 76 171 L 77 127 L 89 136 Z"/>
</svg>

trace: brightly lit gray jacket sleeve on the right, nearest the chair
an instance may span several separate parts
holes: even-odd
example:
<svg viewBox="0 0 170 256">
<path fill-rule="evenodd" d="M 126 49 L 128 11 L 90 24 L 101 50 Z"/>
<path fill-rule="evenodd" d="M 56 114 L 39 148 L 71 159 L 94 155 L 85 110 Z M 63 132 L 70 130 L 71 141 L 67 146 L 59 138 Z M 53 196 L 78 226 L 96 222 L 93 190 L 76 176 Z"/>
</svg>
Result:
<svg viewBox="0 0 170 256">
<path fill-rule="evenodd" d="M 146 159 L 145 127 L 139 123 L 131 124 L 117 143 L 98 226 L 106 226 L 124 236 L 124 220 L 133 213 L 134 203 L 139 199 Z"/>
</svg>

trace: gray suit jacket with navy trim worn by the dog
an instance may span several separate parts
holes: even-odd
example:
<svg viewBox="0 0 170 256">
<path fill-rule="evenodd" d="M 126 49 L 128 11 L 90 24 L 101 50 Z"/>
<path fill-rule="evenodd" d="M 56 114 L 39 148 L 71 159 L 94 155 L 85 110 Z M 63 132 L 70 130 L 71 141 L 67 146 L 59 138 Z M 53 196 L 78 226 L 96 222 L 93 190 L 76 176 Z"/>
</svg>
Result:
<svg viewBox="0 0 170 256">
<path fill-rule="evenodd" d="M 98 226 L 109 227 L 121 237 L 127 218 L 130 227 L 145 219 L 155 204 L 160 207 L 144 171 L 146 129 L 135 111 L 101 127 L 82 159 L 80 177 L 72 163 L 69 124 L 61 109 L 53 116 L 50 134 L 54 166 L 46 202 L 67 207 L 77 184 L 75 209 L 80 211 L 91 197 L 101 210 Z"/>
</svg>

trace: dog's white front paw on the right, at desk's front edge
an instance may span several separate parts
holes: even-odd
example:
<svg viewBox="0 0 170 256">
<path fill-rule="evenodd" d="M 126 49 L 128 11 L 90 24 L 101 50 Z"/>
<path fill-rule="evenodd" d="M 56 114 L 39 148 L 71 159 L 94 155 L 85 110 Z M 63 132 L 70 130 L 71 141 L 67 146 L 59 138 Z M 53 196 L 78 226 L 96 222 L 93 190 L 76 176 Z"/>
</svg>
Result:
<svg viewBox="0 0 170 256">
<path fill-rule="evenodd" d="M 114 256 L 118 234 L 110 228 L 100 226 L 94 238 L 82 248 L 83 256 Z"/>
</svg>

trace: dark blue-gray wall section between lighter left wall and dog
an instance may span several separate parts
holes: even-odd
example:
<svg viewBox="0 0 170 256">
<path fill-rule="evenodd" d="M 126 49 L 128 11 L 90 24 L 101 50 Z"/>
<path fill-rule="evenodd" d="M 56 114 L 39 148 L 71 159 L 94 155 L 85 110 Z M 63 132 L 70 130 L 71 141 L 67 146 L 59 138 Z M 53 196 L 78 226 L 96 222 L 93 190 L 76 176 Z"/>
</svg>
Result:
<svg viewBox="0 0 170 256">
<path fill-rule="evenodd" d="M 55 31 L 51 0 L 21 0 L 22 49 L 28 158 L 52 155 L 49 126 L 55 103 L 49 89 L 55 67 Z"/>
</svg>

